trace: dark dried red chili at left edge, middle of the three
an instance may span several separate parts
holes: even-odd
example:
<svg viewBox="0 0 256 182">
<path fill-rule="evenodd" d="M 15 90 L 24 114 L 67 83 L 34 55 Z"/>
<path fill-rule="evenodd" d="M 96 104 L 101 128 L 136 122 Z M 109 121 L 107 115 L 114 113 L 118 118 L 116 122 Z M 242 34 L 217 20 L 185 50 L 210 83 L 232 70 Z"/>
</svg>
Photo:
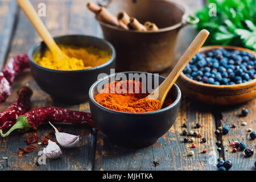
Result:
<svg viewBox="0 0 256 182">
<path fill-rule="evenodd" d="M 32 90 L 28 86 L 19 89 L 17 100 L 5 111 L 0 113 L 0 129 L 7 131 L 16 122 L 16 119 L 25 114 L 30 108 L 30 97 Z"/>
</svg>

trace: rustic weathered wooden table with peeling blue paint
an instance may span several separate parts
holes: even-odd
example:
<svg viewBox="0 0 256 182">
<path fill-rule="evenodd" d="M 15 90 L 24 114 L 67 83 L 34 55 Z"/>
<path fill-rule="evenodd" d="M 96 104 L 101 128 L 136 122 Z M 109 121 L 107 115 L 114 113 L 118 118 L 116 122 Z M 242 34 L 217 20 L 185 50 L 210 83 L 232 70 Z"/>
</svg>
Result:
<svg viewBox="0 0 256 182">
<path fill-rule="evenodd" d="M 199 9 L 203 1 L 183 0 L 189 4 L 192 10 Z M 94 15 L 86 8 L 86 1 L 81 0 L 31 0 L 34 7 L 40 2 L 46 3 L 47 14 L 42 17 L 44 23 L 53 36 L 65 34 L 86 34 L 102 38 L 102 32 Z M 185 27 L 179 34 L 177 41 L 176 58 L 184 52 L 191 42 L 195 31 L 192 27 Z M 28 52 L 28 49 L 36 42 L 41 41 L 24 13 L 18 9 L 14 0 L 0 1 L 0 64 L 2 67 L 11 56 Z M 168 73 L 168 72 L 167 72 Z M 164 73 L 162 75 L 167 75 Z M 12 88 L 11 96 L 7 102 L 0 106 L 5 110 L 15 101 L 16 89 L 20 85 L 29 83 L 34 90 L 32 96 L 32 108 L 43 106 L 61 106 L 67 109 L 89 111 L 89 104 L 66 106 L 54 102 L 44 93 L 33 80 L 30 71 L 19 75 Z M 38 151 L 42 146 L 37 145 L 36 151 L 30 154 L 18 156 L 18 147 L 26 147 L 25 139 L 36 133 L 39 138 L 49 133 L 52 128 L 40 127 L 39 130 L 22 133 L 13 132 L 7 138 L 0 139 L 0 168 L 2 170 L 217 170 L 217 158 L 230 159 L 233 162 L 231 170 L 253 170 L 255 155 L 245 158 L 243 152 L 233 153 L 228 144 L 231 141 L 245 141 L 248 146 L 255 148 L 255 140 L 249 140 L 249 127 L 255 130 L 256 99 L 242 105 L 214 107 L 200 104 L 183 96 L 179 115 L 174 126 L 154 145 L 137 150 L 121 148 L 113 145 L 109 138 L 101 131 L 87 127 L 63 126 L 69 133 L 81 135 L 82 139 L 75 150 L 64 150 L 63 158 L 46 161 L 46 165 L 36 165 Z M 250 110 L 249 115 L 240 118 L 238 114 L 242 107 Z M 247 126 L 241 126 L 241 121 L 246 121 Z M 181 125 L 188 124 L 188 130 L 193 129 L 197 122 L 204 127 L 199 132 L 207 139 L 207 143 L 200 143 L 196 138 L 194 156 L 188 156 L 191 144 L 183 143 L 183 130 Z M 232 126 L 228 135 L 219 138 L 214 135 L 214 130 L 224 124 Z M 54 137 L 52 137 L 55 139 Z M 215 142 L 223 140 L 221 152 L 217 151 Z M 201 151 L 207 149 L 206 154 Z M 229 148 L 230 149 L 230 148 Z M 2 159 L 6 157 L 8 159 Z"/>
</svg>

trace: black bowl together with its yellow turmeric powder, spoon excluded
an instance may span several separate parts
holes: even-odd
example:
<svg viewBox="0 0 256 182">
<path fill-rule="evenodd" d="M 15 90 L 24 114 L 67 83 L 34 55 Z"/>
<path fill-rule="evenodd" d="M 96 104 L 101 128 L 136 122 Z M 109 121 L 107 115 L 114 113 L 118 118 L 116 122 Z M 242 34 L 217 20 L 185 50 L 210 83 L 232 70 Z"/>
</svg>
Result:
<svg viewBox="0 0 256 182">
<path fill-rule="evenodd" d="M 86 35 L 53 39 L 72 59 L 55 61 L 46 44 L 37 43 L 28 52 L 32 76 L 53 100 L 63 104 L 85 102 L 98 75 L 109 75 L 110 68 L 114 68 L 114 47 L 106 40 Z"/>
</svg>

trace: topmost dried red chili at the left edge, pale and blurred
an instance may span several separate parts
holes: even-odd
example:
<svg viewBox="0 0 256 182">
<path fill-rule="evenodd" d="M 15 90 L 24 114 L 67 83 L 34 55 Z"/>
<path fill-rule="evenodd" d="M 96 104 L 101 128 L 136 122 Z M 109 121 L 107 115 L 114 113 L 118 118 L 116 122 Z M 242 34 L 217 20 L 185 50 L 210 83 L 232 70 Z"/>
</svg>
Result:
<svg viewBox="0 0 256 182">
<path fill-rule="evenodd" d="M 15 76 L 29 67 L 30 63 L 26 53 L 11 57 L 10 61 L 0 73 L 0 104 L 3 104 L 6 98 L 10 96 L 11 84 L 13 84 Z"/>
</svg>

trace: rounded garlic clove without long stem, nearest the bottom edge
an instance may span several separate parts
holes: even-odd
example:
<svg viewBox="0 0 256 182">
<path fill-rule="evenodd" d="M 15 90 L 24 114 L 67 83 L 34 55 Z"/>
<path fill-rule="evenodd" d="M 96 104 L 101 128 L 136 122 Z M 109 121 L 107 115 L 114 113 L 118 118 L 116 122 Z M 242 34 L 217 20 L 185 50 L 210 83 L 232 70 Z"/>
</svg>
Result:
<svg viewBox="0 0 256 182">
<path fill-rule="evenodd" d="M 50 159 L 57 159 L 57 158 L 60 158 L 62 155 L 60 147 L 55 142 L 52 142 L 51 140 L 48 140 L 48 145 L 46 148 L 44 148 L 43 152 Z"/>
</svg>

